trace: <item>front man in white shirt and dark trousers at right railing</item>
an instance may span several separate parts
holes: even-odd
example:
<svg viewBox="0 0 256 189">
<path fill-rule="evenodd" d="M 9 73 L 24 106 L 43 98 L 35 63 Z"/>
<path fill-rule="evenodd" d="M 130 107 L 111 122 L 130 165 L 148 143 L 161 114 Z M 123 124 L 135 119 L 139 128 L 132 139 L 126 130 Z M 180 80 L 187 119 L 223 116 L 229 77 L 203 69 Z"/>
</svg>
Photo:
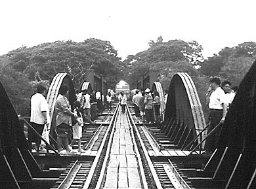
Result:
<svg viewBox="0 0 256 189">
<path fill-rule="evenodd" d="M 226 117 L 226 97 L 223 89 L 221 88 L 221 80 L 217 77 L 211 78 L 210 88 L 212 90 L 209 96 L 209 109 L 211 124 L 207 130 L 209 134 L 218 124 L 223 124 Z M 205 142 L 205 150 L 211 153 L 217 147 L 220 128 L 215 130 Z"/>
</svg>

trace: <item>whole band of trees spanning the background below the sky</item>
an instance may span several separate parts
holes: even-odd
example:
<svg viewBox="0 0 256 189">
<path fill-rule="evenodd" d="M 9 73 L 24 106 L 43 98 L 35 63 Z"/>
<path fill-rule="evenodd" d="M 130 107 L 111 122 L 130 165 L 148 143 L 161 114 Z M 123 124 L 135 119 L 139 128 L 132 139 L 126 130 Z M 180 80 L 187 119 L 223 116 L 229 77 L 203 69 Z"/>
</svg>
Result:
<svg viewBox="0 0 256 189">
<path fill-rule="evenodd" d="M 203 58 L 202 46 L 196 41 L 170 40 L 158 37 L 149 41 L 149 48 L 123 61 L 109 41 L 86 39 L 83 42 L 56 41 L 27 48 L 23 46 L 0 56 L 0 80 L 3 82 L 14 108 L 22 116 L 30 115 L 30 97 L 38 83 L 49 86 L 58 72 L 72 77 L 79 88 L 87 70 L 106 78 L 109 88 L 125 80 L 130 88 L 137 87 L 142 73 L 148 69 L 159 71 L 158 80 L 168 90 L 177 72 L 186 72 L 194 81 L 204 113 L 205 92 L 210 77 L 230 80 L 238 86 L 256 57 L 256 43 L 245 42 L 232 48 L 225 47 L 218 54 Z"/>
</svg>

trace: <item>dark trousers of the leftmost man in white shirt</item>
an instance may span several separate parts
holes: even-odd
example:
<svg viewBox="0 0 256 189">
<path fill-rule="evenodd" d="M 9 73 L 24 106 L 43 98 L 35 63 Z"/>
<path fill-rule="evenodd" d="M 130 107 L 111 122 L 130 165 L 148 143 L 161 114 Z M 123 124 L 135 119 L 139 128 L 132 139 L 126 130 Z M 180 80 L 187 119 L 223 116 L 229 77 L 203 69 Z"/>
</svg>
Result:
<svg viewBox="0 0 256 189">
<path fill-rule="evenodd" d="M 41 135 L 43 133 L 43 128 L 45 127 L 45 125 L 35 124 L 31 122 L 31 126 L 37 131 L 37 133 L 39 133 L 39 135 L 37 135 L 37 133 L 35 133 L 32 128 L 28 128 L 28 149 L 31 151 L 32 142 L 35 142 L 35 144 L 37 145 L 37 150 L 39 150 L 39 146 L 41 145 Z"/>
</svg>

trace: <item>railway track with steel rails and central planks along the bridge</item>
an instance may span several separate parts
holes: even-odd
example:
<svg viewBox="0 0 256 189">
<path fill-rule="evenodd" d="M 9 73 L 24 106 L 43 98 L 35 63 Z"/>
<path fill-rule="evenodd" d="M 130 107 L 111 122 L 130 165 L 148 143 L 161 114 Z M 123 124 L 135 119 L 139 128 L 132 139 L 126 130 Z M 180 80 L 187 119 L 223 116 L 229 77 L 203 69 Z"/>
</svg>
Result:
<svg viewBox="0 0 256 189">
<path fill-rule="evenodd" d="M 97 150 L 95 159 L 70 163 L 53 188 L 181 188 L 182 183 L 175 186 L 178 179 L 170 179 L 171 163 L 152 162 L 144 145 L 149 136 L 140 133 L 144 132 L 137 128 L 129 108 L 121 114 L 117 106 L 110 124 L 98 127 L 87 143 L 86 150 Z M 148 141 L 147 148 L 151 145 Z M 176 172 L 175 178 L 180 173 Z"/>
</svg>

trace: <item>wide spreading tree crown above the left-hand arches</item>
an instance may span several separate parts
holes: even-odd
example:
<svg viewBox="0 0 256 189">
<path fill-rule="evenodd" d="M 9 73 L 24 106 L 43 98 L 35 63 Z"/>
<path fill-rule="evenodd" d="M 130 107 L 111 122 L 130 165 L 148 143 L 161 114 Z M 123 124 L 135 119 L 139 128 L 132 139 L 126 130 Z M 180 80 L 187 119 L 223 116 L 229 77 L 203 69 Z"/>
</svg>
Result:
<svg viewBox="0 0 256 189">
<path fill-rule="evenodd" d="M 51 80 L 59 72 L 66 72 L 74 85 L 80 86 L 89 69 L 117 80 L 121 77 L 121 61 L 117 51 L 108 41 L 87 39 L 81 43 L 56 41 L 32 48 L 18 48 L 9 52 L 12 67 L 22 71 L 33 80 L 35 75 L 42 80 Z"/>
</svg>

